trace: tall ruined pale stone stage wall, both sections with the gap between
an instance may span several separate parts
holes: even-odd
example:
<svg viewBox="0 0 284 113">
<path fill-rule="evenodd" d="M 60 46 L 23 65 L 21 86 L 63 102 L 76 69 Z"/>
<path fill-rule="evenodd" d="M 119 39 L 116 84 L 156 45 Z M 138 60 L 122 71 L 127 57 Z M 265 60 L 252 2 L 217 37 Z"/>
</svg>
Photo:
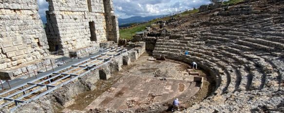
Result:
<svg viewBox="0 0 284 113">
<path fill-rule="evenodd" d="M 82 54 L 96 51 L 101 42 L 118 42 L 112 0 L 47 1 L 50 6 L 44 29 L 37 0 L 0 0 L 1 79 L 18 78 L 27 71 L 50 66 L 49 50 L 54 51 L 56 45 L 59 50 Z M 93 21 L 91 29 L 97 40 L 90 38 L 89 22 Z"/>
</svg>

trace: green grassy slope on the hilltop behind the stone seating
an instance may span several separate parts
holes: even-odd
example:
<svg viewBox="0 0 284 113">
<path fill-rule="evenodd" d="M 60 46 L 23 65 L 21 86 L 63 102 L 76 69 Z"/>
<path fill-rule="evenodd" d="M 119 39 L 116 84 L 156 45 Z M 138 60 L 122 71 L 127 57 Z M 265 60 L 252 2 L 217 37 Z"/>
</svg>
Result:
<svg viewBox="0 0 284 113">
<path fill-rule="evenodd" d="M 192 15 L 194 13 L 197 13 L 198 11 L 199 11 L 198 9 L 194 9 L 194 10 L 183 12 L 183 13 L 181 13 L 181 15 L 182 15 L 182 17 L 183 16 L 189 16 L 189 15 Z M 173 16 L 173 17 L 178 17 L 178 16 Z M 119 30 L 120 38 L 121 39 L 132 39 L 133 35 L 136 32 L 144 31 L 146 29 L 146 27 L 150 26 L 152 23 L 155 23 L 155 22 L 160 21 L 160 20 L 166 21 L 166 20 L 169 20 L 169 19 L 170 19 L 169 16 L 164 17 L 164 18 L 156 18 L 156 19 L 149 21 L 148 23 L 140 24 L 140 25 L 137 25 L 133 28 L 129 28 L 129 29 L 125 29 L 125 30 Z"/>
</svg>

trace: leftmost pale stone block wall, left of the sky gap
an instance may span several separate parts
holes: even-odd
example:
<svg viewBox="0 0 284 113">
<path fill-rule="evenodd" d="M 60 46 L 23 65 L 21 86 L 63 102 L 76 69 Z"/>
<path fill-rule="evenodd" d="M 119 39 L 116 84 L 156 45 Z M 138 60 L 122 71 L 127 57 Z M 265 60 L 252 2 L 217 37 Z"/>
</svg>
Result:
<svg viewBox="0 0 284 113">
<path fill-rule="evenodd" d="M 0 0 L 0 70 L 41 60 L 48 49 L 37 0 Z"/>
</svg>

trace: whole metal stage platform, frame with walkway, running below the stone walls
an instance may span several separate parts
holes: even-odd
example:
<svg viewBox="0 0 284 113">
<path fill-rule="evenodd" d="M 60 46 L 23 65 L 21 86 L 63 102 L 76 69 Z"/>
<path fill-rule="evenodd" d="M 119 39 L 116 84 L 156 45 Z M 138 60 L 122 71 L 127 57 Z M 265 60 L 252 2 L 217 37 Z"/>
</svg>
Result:
<svg viewBox="0 0 284 113">
<path fill-rule="evenodd" d="M 70 81 L 76 80 L 101 65 L 110 62 L 111 58 L 127 52 L 126 48 L 113 47 L 103 48 L 96 53 L 90 53 L 84 58 L 71 59 L 72 61 L 57 68 L 38 72 L 35 77 L 5 82 L 2 85 L 4 90 L 0 93 L 0 107 L 8 107 L 14 111 L 20 105 L 38 99 Z M 64 63 L 64 61 L 63 61 Z"/>
</svg>

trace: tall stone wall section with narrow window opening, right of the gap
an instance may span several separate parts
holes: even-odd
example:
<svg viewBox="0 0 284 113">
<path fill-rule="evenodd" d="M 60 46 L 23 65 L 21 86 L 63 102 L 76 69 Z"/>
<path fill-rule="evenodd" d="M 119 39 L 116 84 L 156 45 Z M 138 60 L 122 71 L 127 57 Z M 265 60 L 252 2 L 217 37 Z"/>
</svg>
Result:
<svg viewBox="0 0 284 113">
<path fill-rule="evenodd" d="M 64 55 L 74 50 L 118 43 L 119 30 L 113 0 L 47 0 L 46 34 L 50 51 Z M 92 51 L 91 51 L 92 52 Z"/>
</svg>

